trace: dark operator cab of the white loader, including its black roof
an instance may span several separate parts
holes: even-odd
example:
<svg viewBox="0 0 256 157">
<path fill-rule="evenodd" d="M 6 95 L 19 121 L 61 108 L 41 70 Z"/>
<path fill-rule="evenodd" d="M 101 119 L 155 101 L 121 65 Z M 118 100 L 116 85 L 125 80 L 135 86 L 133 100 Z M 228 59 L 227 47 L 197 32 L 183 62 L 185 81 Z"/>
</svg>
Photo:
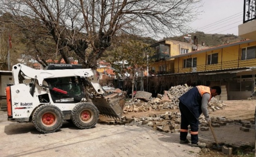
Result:
<svg viewBox="0 0 256 157">
<path fill-rule="evenodd" d="M 51 64 L 46 67 L 46 70 L 81 68 L 82 65 Z M 51 99 L 54 103 L 77 103 L 80 102 L 80 100 L 85 96 L 83 81 L 80 77 L 59 77 L 45 79 L 45 81 L 48 83 L 48 86 L 51 86 L 51 88 L 58 88 L 68 92 L 68 94 L 63 94 L 50 90 Z"/>
</svg>

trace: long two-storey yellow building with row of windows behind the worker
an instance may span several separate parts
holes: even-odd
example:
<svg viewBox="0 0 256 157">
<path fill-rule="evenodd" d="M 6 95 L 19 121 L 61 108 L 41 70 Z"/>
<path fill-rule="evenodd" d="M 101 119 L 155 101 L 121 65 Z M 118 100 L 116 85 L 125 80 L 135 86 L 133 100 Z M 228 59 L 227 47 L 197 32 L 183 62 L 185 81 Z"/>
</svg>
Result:
<svg viewBox="0 0 256 157">
<path fill-rule="evenodd" d="M 223 86 L 227 90 L 227 99 L 247 99 L 254 92 L 254 40 L 241 40 L 172 56 L 169 59 L 174 61 L 174 74 L 198 75 L 198 79 L 205 81 L 203 84 Z M 207 75 L 207 79 L 203 79 L 204 75 Z"/>
</svg>

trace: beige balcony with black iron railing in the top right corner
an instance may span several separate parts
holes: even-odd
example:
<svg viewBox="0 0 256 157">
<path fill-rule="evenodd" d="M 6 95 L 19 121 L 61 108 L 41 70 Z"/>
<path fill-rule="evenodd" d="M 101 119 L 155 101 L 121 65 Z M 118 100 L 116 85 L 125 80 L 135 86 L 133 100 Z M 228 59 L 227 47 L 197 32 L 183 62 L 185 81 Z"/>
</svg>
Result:
<svg viewBox="0 0 256 157">
<path fill-rule="evenodd" d="M 238 35 L 256 40 L 256 0 L 244 0 L 243 24 L 238 26 Z"/>
</svg>

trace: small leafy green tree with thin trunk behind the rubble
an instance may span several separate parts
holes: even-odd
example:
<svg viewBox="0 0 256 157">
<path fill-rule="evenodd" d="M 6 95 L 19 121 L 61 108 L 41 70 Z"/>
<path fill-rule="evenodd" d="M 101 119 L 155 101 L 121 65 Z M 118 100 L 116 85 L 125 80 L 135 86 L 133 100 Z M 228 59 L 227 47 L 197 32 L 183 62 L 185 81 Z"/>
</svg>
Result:
<svg viewBox="0 0 256 157">
<path fill-rule="evenodd" d="M 146 71 L 147 67 L 152 64 L 150 58 L 153 51 L 150 47 L 140 42 L 130 40 L 128 43 L 121 43 L 121 49 L 116 49 L 110 62 L 114 72 L 119 79 L 128 79 L 132 83 L 132 98 L 135 80 L 138 74 Z M 124 64 L 126 61 L 128 64 Z M 148 72 L 148 71 L 147 71 Z"/>
</svg>

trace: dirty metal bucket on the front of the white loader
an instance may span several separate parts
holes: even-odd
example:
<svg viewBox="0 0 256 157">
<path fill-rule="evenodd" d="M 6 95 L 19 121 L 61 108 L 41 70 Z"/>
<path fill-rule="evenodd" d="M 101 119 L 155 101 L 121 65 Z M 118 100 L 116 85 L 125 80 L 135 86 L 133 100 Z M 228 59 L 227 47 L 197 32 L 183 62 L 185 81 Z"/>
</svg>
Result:
<svg viewBox="0 0 256 157">
<path fill-rule="evenodd" d="M 106 95 L 93 96 L 92 102 L 98 108 L 100 114 L 114 119 L 121 119 L 125 95 L 126 92 L 115 89 Z"/>
</svg>

